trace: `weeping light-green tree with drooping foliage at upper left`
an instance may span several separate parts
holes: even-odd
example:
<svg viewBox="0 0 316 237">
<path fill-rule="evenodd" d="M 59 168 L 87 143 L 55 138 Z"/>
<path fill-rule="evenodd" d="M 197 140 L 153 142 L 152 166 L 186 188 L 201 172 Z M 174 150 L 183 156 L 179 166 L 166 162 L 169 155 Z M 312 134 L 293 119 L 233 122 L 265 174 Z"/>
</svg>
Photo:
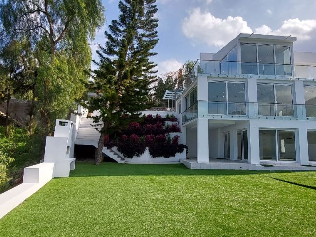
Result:
<svg viewBox="0 0 316 237">
<path fill-rule="evenodd" d="M 88 40 L 104 22 L 101 0 L 4 0 L 0 19 L 11 39 L 30 36 L 37 60 L 38 109 L 49 128 L 82 96 L 90 67 Z"/>
</svg>

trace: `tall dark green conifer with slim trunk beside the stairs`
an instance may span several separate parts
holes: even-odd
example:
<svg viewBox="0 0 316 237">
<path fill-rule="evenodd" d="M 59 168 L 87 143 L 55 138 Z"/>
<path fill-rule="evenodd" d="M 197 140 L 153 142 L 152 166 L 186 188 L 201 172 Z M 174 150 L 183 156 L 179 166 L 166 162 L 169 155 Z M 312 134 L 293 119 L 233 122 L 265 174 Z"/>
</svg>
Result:
<svg viewBox="0 0 316 237">
<path fill-rule="evenodd" d="M 89 111 L 99 110 L 94 122 L 103 122 L 95 163 L 102 160 L 105 134 L 113 134 L 149 108 L 151 84 L 156 81 L 156 64 L 149 60 L 156 55 L 158 43 L 156 0 L 121 0 L 120 15 L 112 21 L 108 40 L 97 54 L 100 62 L 93 72 L 93 88 L 97 97 L 88 102 Z"/>
</svg>

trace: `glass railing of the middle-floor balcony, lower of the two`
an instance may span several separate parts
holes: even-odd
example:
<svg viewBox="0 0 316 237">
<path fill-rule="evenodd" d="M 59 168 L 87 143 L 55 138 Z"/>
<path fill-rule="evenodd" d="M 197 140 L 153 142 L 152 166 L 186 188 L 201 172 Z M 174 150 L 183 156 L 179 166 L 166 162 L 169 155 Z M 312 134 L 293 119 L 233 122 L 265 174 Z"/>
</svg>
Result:
<svg viewBox="0 0 316 237">
<path fill-rule="evenodd" d="M 195 118 L 316 121 L 316 105 L 197 101 L 182 113 L 182 124 Z"/>
</svg>

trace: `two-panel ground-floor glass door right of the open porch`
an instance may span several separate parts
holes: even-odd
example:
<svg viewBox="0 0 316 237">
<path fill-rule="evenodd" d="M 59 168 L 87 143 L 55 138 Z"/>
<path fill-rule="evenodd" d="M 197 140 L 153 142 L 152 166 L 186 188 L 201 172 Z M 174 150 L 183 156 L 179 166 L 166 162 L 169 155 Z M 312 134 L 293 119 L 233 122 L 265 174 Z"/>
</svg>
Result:
<svg viewBox="0 0 316 237">
<path fill-rule="evenodd" d="M 260 160 L 295 161 L 295 132 L 259 130 Z"/>
</svg>

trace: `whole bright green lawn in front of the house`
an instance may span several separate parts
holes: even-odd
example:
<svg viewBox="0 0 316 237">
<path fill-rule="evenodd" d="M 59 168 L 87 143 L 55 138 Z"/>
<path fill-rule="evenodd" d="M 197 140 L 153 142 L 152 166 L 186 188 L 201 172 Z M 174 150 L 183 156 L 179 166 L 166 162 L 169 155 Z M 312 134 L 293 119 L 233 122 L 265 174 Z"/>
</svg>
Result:
<svg viewBox="0 0 316 237">
<path fill-rule="evenodd" d="M 1 237 L 315 237 L 316 172 L 77 163 L 2 220 Z"/>
</svg>

